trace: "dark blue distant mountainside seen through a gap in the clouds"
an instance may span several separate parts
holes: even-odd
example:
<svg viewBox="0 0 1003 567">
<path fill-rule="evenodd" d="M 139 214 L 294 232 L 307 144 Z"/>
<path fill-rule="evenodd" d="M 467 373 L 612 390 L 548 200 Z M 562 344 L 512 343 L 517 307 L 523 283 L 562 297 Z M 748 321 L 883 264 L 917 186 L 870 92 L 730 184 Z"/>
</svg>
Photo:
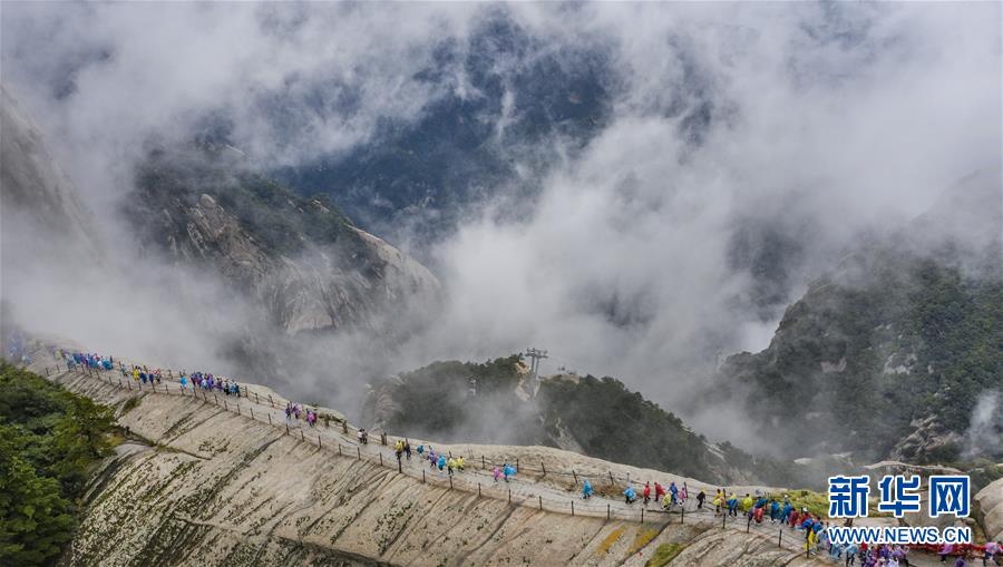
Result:
<svg viewBox="0 0 1003 567">
<path fill-rule="evenodd" d="M 348 153 L 274 175 L 298 193 L 331 195 L 363 226 L 428 243 L 500 186 L 534 195 L 534 174 L 601 131 L 617 84 L 610 46 L 552 45 L 504 8 L 467 39 L 442 40 L 415 78 L 447 87 L 416 120 L 383 120 Z M 317 111 L 342 106 L 329 98 L 340 90 L 319 89 Z"/>
</svg>

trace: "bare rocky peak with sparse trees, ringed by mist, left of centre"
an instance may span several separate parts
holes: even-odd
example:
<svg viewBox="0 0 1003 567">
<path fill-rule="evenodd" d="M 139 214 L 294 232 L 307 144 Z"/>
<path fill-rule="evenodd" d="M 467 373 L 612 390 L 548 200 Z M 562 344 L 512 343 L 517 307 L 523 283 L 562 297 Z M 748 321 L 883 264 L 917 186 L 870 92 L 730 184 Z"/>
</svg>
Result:
<svg viewBox="0 0 1003 567">
<path fill-rule="evenodd" d="M 218 273 L 290 335 L 403 333 L 400 323 L 438 299 L 422 265 L 328 198 L 251 173 L 231 147 L 152 150 L 125 213 L 147 254 Z"/>
</svg>

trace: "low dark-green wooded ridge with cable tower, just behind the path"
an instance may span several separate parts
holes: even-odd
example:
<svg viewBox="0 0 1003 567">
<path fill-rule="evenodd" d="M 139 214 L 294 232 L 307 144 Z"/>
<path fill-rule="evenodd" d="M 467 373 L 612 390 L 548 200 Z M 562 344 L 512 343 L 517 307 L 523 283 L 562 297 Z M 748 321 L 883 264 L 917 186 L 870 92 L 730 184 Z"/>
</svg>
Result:
<svg viewBox="0 0 1003 567">
<path fill-rule="evenodd" d="M 364 416 L 379 428 L 447 442 L 554 447 L 721 482 L 766 481 L 749 454 L 712 446 L 619 380 L 558 374 L 534 385 L 518 355 L 435 362 L 376 381 Z"/>
</svg>

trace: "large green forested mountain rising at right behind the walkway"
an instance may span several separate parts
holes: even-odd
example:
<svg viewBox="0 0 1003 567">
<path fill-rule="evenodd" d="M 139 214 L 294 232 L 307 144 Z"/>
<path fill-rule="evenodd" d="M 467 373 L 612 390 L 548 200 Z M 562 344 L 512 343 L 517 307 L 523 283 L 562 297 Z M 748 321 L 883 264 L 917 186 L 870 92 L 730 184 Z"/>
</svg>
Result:
<svg viewBox="0 0 1003 567">
<path fill-rule="evenodd" d="M 766 350 L 726 361 L 712 391 L 787 457 L 960 459 L 980 400 L 1003 389 L 1000 187 L 968 177 L 848 254 L 787 309 Z"/>
</svg>

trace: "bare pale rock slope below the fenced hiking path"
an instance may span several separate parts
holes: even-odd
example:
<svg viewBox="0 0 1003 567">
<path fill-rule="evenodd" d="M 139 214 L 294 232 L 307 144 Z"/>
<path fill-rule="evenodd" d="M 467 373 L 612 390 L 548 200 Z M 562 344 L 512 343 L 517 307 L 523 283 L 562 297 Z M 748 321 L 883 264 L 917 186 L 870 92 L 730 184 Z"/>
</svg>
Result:
<svg viewBox="0 0 1003 567">
<path fill-rule="evenodd" d="M 299 426 L 288 434 L 279 410 L 270 424 L 270 405 L 254 403 L 253 393 L 221 407 L 226 400 L 217 405 L 212 395 L 178 395 L 174 383 L 162 385 L 173 387 L 174 394 L 154 393 L 148 387 L 119 385 L 115 373 L 53 373 L 52 363 L 37 355 L 32 368 L 45 375 L 49 365 L 64 387 L 115 405 L 129 431 L 89 488 L 86 516 L 65 565 L 814 564 L 796 542 L 778 547 L 772 531 L 722 529 L 700 515 L 684 522 L 658 514 L 639 521 L 636 507 L 622 512 L 624 505 L 614 504 L 607 519 L 581 501 L 586 509 L 575 516 L 549 502 L 542 510 L 526 491 L 536 487 L 554 493 L 546 482 L 507 485 L 516 491 L 514 504 L 496 486 L 485 486 L 480 495 L 457 479 L 451 489 L 431 472 L 422 482 L 411 471 L 381 467 L 371 458 L 371 446 L 360 449 L 368 456 L 357 458 L 349 437 L 332 443 L 339 438 L 327 429 L 296 436 Z M 242 409 L 235 411 L 236 403 Z M 252 408 L 257 410 L 253 418 Z M 311 439 L 317 436 L 324 446 Z M 556 450 L 499 449 L 524 459 L 582 459 Z M 639 473 L 586 460 L 583 471 L 601 465 L 613 475 Z"/>
</svg>

